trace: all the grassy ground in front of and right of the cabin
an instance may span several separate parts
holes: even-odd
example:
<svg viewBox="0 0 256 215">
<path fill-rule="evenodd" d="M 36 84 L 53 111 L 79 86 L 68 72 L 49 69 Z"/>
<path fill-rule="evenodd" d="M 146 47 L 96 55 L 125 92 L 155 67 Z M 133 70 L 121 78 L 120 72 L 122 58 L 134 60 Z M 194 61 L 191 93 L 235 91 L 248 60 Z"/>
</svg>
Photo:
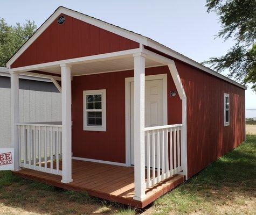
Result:
<svg viewBox="0 0 256 215">
<path fill-rule="evenodd" d="M 2 214 L 256 214 L 256 135 L 144 211 L 0 171 Z"/>
</svg>

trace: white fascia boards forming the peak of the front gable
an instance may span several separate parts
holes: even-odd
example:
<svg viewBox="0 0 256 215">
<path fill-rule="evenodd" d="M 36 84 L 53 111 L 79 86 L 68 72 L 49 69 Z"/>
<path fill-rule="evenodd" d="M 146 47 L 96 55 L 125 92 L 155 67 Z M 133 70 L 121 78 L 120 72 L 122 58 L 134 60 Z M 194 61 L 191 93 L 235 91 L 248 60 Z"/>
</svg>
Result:
<svg viewBox="0 0 256 215">
<path fill-rule="evenodd" d="M 115 33 L 117 35 L 120 35 L 124 38 L 133 40 L 135 42 L 147 44 L 147 38 L 143 37 L 139 34 L 129 32 L 127 30 L 124 30 L 120 27 L 111 25 L 106 23 L 105 21 L 101 21 L 86 15 L 83 15 L 82 13 L 79 13 L 77 11 L 73 11 L 67 8 L 59 7 L 46 21 L 43 25 L 41 25 L 38 30 L 32 35 L 32 37 L 25 42 L 25 44 L 15 53 L 15 55 L 12 56 L 12 58 L 6 63 L 6 67 L 10 68 L 11 64 L 39 37 L 41 33 L 43 33 L 47 27 L 49 27 L 54 20 L 56 20 L 61 13 L 64 13 L 65 15 L 71 16 L 73 18 L 77 18 L 81 21 L 85 21 L 86 23 L 89 23 L 91 25 L 94 25 L 96 27 L 100 27 L 106 31 Z"/>
</svg>

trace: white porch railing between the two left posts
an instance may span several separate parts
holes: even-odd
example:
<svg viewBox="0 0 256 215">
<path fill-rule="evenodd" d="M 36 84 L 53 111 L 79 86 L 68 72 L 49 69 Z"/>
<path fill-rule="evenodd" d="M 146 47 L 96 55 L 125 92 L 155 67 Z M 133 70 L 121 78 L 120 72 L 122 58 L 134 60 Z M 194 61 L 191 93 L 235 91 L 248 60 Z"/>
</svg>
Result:
<svg viewBox="0 0 256 215">
<path fill-rule="evenodd" d="M 18 123 L 19 166 L 62 175 L 62 125 Z"/>
</svg>

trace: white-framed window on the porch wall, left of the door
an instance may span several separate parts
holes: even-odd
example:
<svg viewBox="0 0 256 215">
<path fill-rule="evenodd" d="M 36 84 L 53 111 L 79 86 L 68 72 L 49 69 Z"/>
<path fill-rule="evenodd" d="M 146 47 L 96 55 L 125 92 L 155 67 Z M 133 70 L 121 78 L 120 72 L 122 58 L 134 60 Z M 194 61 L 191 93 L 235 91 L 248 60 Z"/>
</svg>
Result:
<svg viewBox="0 0 256 215">
<path fill-rule="evenodd" d="M 106 90 L 84 91 L 84 130 L 106 131 Z"/>
</svg>

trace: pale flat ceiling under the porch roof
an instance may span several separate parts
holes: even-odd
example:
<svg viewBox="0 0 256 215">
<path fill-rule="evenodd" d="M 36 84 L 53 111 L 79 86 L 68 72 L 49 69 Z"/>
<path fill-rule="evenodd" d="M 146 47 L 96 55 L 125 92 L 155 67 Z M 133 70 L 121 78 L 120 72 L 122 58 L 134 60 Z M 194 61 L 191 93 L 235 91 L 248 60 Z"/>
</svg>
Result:
<svg viewBox="0 0 256 215">
<path fill-rule="evenodd" d="M 162 66 L 161 63 L 146 58 L 146 67 Z M 127 58 L 103 60 L 96 62 L 78 63 L 72 64 L 71 75 L 87 75 L 93 73 L 104 73 L 109 71 L 121 71 L 134 68 L 134 58 L 129 56 Z M 46 71 L 49 73 L 60 74 L 60 67 L 52 67 L 47 69 L 41 69 L 40 71 Z"/>
</svg>

